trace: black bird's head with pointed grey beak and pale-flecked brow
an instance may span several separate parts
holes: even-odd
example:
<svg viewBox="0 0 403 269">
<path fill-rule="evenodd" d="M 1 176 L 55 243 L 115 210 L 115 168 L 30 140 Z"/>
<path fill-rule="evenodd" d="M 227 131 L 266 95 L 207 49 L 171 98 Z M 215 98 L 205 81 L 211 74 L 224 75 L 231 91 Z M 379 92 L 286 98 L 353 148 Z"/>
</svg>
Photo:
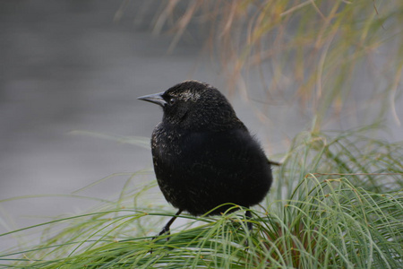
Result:
<svg viewBox="0 0 403 269">
<path fill-rule="evenodd" d="M 225 96 L 203 82 L 185 81 L 167 91 L 138 99 L 161 106 L 163 121 L 181 128 L 219 131 L 240 123 Z"/>
</svg>

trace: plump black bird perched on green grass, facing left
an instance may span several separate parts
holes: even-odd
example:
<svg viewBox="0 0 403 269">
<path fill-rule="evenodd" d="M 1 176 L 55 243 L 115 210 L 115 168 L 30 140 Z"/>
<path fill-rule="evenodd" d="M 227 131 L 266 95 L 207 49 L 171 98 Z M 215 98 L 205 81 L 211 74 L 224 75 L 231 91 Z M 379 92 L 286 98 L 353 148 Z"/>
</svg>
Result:
<svg viewBox="0 0 403 269">
<path fill-rule="evenodd" d="M 139 100 L 164 111 L 152 133 L 152 158 L 159 188 L 178 212 L 159 235 L 169 233 L 183 211 L 212 215 L 233 207 L 220 204 L 249 208 L 262 202 L 272 181 L 270 161 L 216 88 L 186 81 Z"/>
</svg>

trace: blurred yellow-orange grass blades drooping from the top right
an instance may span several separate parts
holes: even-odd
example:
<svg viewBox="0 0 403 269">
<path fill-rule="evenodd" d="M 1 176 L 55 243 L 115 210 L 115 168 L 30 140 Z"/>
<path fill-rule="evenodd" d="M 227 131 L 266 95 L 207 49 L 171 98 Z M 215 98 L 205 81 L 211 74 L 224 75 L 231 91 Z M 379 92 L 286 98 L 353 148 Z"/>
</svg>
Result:
<svg viewBox="0 0 403 269">
<path fill-rule="evenodd" d="M 155 14 L 154 32 L 173 33 L 169 50 L 209 32 L 198 38 L 212 62 L 222 63 L 228 89 L 247 95 L 248 81 L 260 77 L 267 102 L 297 100 L 317 117 L 316 131 L 346 108 L 378 119 L 388 113 L 401 124 L 402 1 L 167 0 L 143 7 Z"/>
</svg>

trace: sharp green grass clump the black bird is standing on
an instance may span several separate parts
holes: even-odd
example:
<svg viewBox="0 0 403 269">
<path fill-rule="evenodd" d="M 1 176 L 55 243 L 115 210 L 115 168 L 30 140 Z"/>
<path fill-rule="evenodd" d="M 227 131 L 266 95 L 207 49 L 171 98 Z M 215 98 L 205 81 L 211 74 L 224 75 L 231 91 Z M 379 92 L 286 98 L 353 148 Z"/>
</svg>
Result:
<svg viewBox="0 0 403 269">
<path fill-rule="evenodd" d="M 252 233 L 241 210 L 184 214 L 170 240 L 152 239 L 174 214 L 148 206 L 153 181 L 88 213 L 1 235 L 43 230 L 42 243 L 0 260 L 13 268 L 399 268 L 403 144 L 365 132 L 297 135 L 267 200 L 251 210 Z"/>
</svg>

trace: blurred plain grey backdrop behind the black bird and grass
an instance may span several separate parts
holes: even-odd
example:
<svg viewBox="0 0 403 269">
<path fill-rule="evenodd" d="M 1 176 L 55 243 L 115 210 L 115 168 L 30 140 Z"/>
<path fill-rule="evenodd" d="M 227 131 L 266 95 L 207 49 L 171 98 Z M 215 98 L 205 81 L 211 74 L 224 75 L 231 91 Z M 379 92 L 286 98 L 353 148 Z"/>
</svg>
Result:
<svg viewBox="0 0 403 269">
<path fill-rule="evenodd" d="M 187 79 L 209 82 L 223 91 L 274 161 L 281 159 L 278 154 L 287 151 L 296 133 L 313 127 L 344 130 L 382 121 L 385 132 L 376 135 L 390 141 L 403 137 L 399 76 L 388 77 L 372 68 L 394 56 L 399 40 L 377 47 L 371 65 L 359 63 L 350 82 L 354 91 L 343 92 L 343 99 L 334 96 L 342 108 L 337 102 L 321 107 L 316 106 L 319 99 L 307 100 L 302 94 L 311 84 L 293 76 L 298 63 L 270 58 L 269 64 L 249 63 L 250 68 L 239 71 L 237 66 L 245 63 L 233 56 L 241 56 L 240 50 L 215 47 L 210 29 L 214 23 L 201 15 L 196 22 L 186 21 L 189 10 L 197 7 L 192 3 L 200 1 L 179 1 L 175 13 L 164 13 L 174 2 L 0 2 L 0 233 L 99 203 L 71 195 L 99 179 L 113 176 L 77 195 L 116 197 L 128 173 L 142 169 L 150 172 L 136 180 L 154 180 L 149 149 L 99 139 L 97 134 L 149 139 L 162 112 L 136 98 Z M 391 22 L 383 23 L 387 32 Z M 229 30 L 221 24 L 222 32 L 212 36 L 225 43 Z M 299 24 L 290 19 L 287 27 L 291 31 L 285 40 L 292 39 L 292 29 Z M 270 33 L 266 44 L 276 45 L 280 33 Z M 230 35 L 251 38 L 242 27 Z M 320 58 L 317 64 L 321 63 Z M 281 72 L 271 68 L 276 64 Z M 396 74 L 401 74 L 401 65 Z M 323 89 L 326 85 L 323 82 Z M 392 91 L 385 97 L 382 92 L 388 87 Z M 312 88 L 316 91 L 308 96 L 321 96 L 322 88 Z M 322 117 L 329 117 L 315 121 L 321 111 Z"/>
</svg>

